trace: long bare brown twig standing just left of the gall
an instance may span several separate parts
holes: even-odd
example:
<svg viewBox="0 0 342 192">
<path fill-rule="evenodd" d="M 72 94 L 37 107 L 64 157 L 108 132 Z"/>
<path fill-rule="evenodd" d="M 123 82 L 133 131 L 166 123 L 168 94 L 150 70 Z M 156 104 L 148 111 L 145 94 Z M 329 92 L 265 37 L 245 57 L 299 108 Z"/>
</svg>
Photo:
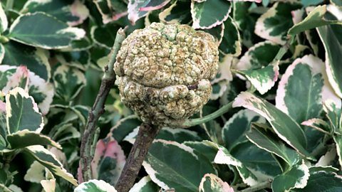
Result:
<svg viewBox="0 0 342 192">
<path fill-rule="evenodd" d="M 100 90 L 98 91 L 98 96 L 95 99 L 93 107 L 88 114 L 88 122 L 83 132 L 81 139 L 81 149 L 80 149 L 80 169 L 82 176 L 82 181 L 88 181 L 91 178 L 90 173 L 90 163 L 91 163 L 91 144 L 93 144 L 93 137 L 96 131 L 96 124 L 100 115 L 105 112 L 104 105 L 105 100 L 108 97 L 110 89 L 113 87 L 115 82 L 115 73 L 113 66 L 116 60 L 116 55 L 121 47 L 121 43 L 125 39 L 125 30 L 120 28 L 118 33 L 116 33 L 115 42 L 110 53 L 110 60 L 107 66 L 105 66 L 105 73 L 103 75 Z M 82 181 L 79 181 L 80 183 Z"/>
</svg>

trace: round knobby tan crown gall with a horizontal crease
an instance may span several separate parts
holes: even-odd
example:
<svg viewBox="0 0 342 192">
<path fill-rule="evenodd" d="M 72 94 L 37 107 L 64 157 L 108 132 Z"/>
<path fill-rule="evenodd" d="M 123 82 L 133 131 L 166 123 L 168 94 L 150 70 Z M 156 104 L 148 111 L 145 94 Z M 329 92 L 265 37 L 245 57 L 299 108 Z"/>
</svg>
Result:
<svg viewBox="0 0 342 192">
<path fill-rule="evenodd" d="M 114 64 L 121 100 L 143 122 L 180 126 L 209 100 L 218 54 L 209 33 L 187 25 L 152 23 L 135 30 Z"/>
</svg>

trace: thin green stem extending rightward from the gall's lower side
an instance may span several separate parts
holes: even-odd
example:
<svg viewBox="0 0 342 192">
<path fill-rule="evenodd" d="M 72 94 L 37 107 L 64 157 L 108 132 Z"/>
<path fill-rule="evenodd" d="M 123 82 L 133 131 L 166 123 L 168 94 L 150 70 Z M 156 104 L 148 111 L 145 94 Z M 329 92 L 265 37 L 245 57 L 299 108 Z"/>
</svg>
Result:
<svg viewBox="0 0 342 192">
<path fill-rule="evenodd" d="M 219 110 L 217 110 L 216 112 L 213 112 L 212 114 L 208 114 L 202 118 L 187 119 L 187 121 L 183 123 L 183 126 L 184 127 L 192 127 L 192 126 L 195 126 L 197 124 L 209 122 L 210 120 L 216 119 L 220 115 L 228 112 L 230 109 L 232 109 L 232 105 L 233 105 L 233 102 L 229 102 L 228 104 L 223 105 L 221 108 L 219 108 Z"/>
</svg>

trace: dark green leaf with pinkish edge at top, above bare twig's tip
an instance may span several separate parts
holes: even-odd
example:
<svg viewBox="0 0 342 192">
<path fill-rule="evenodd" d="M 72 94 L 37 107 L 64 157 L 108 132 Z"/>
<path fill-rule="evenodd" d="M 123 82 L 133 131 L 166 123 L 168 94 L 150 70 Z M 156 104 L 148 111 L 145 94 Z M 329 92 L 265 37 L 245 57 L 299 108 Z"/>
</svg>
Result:
<svg viewBox="0 0 342 192">
<path fill-rule="evenodd" d="M 96 0 L 93 1 L 96 8 L 102 16 L 103 23 L 109 23 L 110 21 L 117 21 L 119 18 L 126 16 L 127 1 L 122 0 Z"/>
</svg>

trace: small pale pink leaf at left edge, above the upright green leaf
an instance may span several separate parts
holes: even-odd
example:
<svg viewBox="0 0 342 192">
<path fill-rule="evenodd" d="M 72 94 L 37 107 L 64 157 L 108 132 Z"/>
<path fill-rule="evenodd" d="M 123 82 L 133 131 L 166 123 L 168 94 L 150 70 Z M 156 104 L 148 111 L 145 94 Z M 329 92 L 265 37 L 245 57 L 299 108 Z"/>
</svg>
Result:
<svg viewBox="0 0 342 192">
<path fill-rule="evenodd" d="M 16 73 L 9 78 L 6 87 L 2 89 L 2 92 L 7 94 L 9 90 L 13 89 L 14 87 L 21 87 L 26 92 L 28 91 L 28 69 L 26 66 L 21 65 L 16 68 Z"/>
</svg>

